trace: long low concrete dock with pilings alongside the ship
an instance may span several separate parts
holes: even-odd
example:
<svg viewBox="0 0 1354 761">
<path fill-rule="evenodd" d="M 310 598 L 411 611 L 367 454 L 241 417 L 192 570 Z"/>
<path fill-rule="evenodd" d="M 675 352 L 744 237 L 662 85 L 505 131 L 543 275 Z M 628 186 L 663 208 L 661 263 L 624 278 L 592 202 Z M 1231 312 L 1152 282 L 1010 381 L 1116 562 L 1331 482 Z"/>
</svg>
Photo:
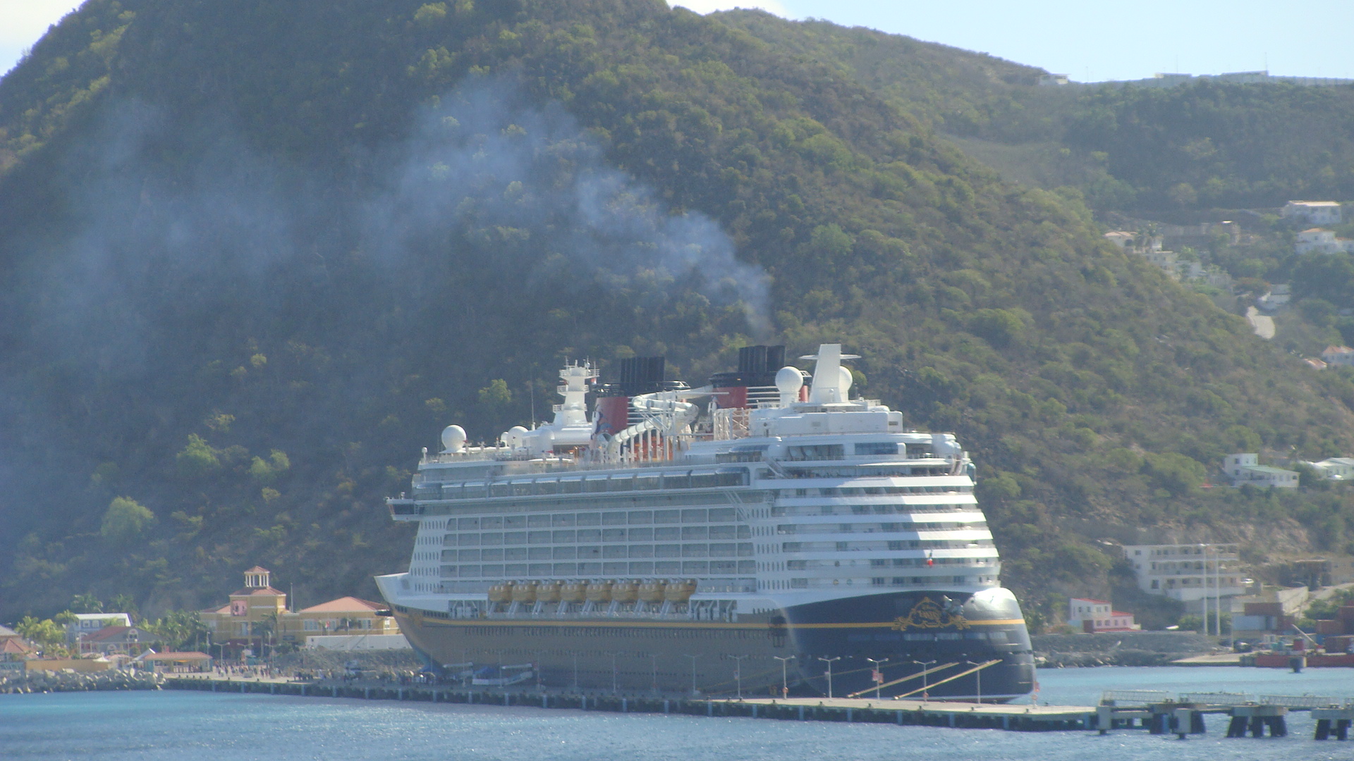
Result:
<svg viewBox="0 0 1354 761">
<path fill-rule="evenodd" d="M 165 689 L 348 697 L 418 703 L 459 703 L 523 708 L 570 708 L 616 714 L 678 714 L 742 716 L 792 722 L 852 722 L 872 724 L 987 729 L 1006 731 L 1147 730 L 1185 739 L 1206 733 L 1205 716 L 1227 719 L 1227 737 L 1286 737 L 1288 715 L 1311 711 L 1313 739 L 1349 739 L 1354 700 L 1324 696 L 1247 695 L 1229 692 L 1170 693 L 1108 691 L 1099 705 L 1005 705 L 946 700 L 867 697 L 688 697 L 611 695 L 544 689 L 467 689 L 447 685 L 390 682 L 286 681 L 169 677 Z"/>
</svg>

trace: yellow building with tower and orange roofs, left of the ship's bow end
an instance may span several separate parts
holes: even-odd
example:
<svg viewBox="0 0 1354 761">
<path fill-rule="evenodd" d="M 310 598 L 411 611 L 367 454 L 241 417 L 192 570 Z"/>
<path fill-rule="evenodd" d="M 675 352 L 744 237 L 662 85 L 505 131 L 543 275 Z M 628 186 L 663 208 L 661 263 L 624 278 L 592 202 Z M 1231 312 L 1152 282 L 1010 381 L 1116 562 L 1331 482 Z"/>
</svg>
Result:
<svg viewBox="0 0 1354 761">
<path fill-rule="evenodd" d="M 386 605 L 340 597 L 302 611 L 287 607 L 287 593 L 274 589 L 271 571 L 255 566 L 245 571 L 245 585 L 230 594 L 230 601 L 200 615 L 211 632 L 213 647 L 222 659 L 238 658 L 245 649 L 255 655 L 282 643 L 305 645 L 311 635 L 333 634 L 399 634 L 390 616 L 380 616 Z"/>
</svg>

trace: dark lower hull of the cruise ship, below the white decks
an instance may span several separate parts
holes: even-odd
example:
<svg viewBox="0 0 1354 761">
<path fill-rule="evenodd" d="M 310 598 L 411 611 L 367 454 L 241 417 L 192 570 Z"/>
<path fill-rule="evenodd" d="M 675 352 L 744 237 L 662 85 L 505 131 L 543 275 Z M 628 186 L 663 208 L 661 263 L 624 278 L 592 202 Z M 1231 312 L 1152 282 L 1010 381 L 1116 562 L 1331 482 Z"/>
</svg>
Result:
<svg viewBox="0 0 1354 761">
<path fill-rule="evenodd" d="M 777 658 L 785 658 L 784 684 L 792 695 L 827 695 L 830 689 L 837 697 L 864 691 L 873 697 L 868 659 L 887 658 L 881 697 L 975 699 L 980 693 L 983 700 L 1003 701 L 1028 695 L 1034 664 L 1014 600 L 992 607 L 952 596 L 875 594 L 739 616 L 737 623 L 548 616 L 455 620 L 393 608 L 429 665 L 539 664 L 547 687 L 780 695 L 783 661 Z M 823 658 L 835 658 L 830 688 Z M 957 676 L 988 661 L 998 662 Z M 926 669 L 934 672 L 922 677 Z"/>
</svg>

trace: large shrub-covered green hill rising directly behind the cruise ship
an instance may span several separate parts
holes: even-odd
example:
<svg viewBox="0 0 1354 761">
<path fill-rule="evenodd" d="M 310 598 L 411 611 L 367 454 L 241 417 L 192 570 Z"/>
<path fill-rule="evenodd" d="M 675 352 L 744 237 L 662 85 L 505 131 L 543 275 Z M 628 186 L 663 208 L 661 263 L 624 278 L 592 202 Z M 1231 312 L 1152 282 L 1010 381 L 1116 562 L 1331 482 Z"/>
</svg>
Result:
<svg viewBox="0 0 1354 761">
<path fill-rule="evenodd" d="M 382 500 L 443 425 L 528 421 L 565 357 L 699 380 L 750 340 L 839 340 L 871 397 L 956 431 L 1032 611 L 1104 594 L 1095 540 L 1139 525 L 1347 547 L 1343 492 L 1201 486 L 1228 451 L 1351 451 L 1354 385 L 937 135 L 1032 69 L 926 49 L 881 92 L 722 19 L 64 19 L 0 80 L 0 619 L 199 607 L 253 563 L 374 596 L 410 548 Z"/>
</svg>

